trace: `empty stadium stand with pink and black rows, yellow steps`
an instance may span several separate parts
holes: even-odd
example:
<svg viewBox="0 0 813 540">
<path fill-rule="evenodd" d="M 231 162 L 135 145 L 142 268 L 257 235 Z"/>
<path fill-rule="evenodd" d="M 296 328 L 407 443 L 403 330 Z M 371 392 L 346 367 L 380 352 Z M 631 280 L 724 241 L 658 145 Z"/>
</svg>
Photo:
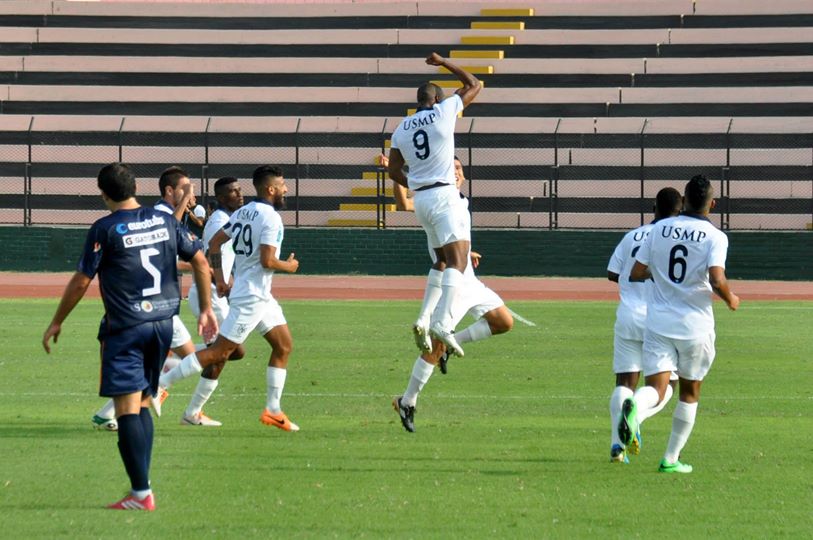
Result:
<svg viewBox="0 0 813 540">
<path fill-rule="evenodd" d="M 813 3 L 0 3 L 0 222 L 79 224 L 100 163 L 157 196 L 273 162 L 288 225 L 416 226 L 373 161 L 431 50 L 484 82 L 458 122 L 475 227 L 628 228 L 702 171 L 719 224 L 813 222 Z"/>
</svg>

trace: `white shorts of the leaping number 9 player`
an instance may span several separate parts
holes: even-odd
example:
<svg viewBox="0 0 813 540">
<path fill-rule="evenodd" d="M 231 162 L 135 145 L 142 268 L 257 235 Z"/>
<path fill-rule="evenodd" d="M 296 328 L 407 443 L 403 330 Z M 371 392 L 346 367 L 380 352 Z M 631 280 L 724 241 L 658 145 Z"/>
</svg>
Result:
<svg viewBox="0 0 813 540">
<path fill-rule="evenodd" d="M 471 216 L 454 186 L 415 192 L 415 217 L 432 248 L 458 240 L 471 242 Z"/>
</svg>

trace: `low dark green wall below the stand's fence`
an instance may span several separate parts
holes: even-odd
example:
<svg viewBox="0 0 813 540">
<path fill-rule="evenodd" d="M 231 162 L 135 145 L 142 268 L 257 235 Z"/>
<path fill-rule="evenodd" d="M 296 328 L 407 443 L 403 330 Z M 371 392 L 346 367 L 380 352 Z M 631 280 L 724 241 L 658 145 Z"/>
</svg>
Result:
<svg viewBox="0 0 813 540">
<path fill-rule="evenodd" d="M 0 271 L 72 271 L 86 229 L 0 227 Z M 479 273 L 498 276 L 606 276 L 622 232 L 475 230 Z M 813 281 L 813 232 L 729 232 L 733 279 Z M 304 274 L 420 275 L 428 269 L 416 229 L 288 229 L 283 255 L 294 251 Z"/>
</svg>

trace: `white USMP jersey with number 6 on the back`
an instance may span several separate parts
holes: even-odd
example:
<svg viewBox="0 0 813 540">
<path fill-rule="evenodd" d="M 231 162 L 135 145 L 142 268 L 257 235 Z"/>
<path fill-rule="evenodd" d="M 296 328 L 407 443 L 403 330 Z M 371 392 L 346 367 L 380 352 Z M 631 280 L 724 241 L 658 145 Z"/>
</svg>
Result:
<svg viewBox="0 0 813 540">
<path fill-rule="evenodd" d="M 703 217 L 684 215 L 656 223 L 636 259 L 654 280 L 647 328 L 675 339 L 714 330 L 709 268 L 725 268 L 728 237 Z"/>
</svg>

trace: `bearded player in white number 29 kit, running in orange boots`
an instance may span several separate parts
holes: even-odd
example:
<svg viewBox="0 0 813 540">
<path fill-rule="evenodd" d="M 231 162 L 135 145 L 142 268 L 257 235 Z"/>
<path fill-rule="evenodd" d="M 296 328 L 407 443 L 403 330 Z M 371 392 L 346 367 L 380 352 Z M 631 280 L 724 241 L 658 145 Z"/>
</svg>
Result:
<svg viewBox="0 0 813 540">
<path fill-rule="evenodd" d="M 217 293 L 228 294 L 229 315 L 211 347 L 186 356 L 162 381 L 172 384 L 200 373 L 206 366 L 225 362 L 248 334 L 256 330 L 271 346 L 266 370 L 266 407 L 260 421 L 284 431 L 299 431 L 299 426 L 288 419 L 280 406 L 293 339 L 282 308 L 271 296 L 274 271 L 296 272 L 299 268 L 293 253 L 285 260 L 278 258 L 284 228 L 277 210 L 285 205 L 288 187 L 278 167 L 258 167 L 253 176 L 257 199 L 234 212 L 209 242 Z M 222 262 L 222 246 L 229 239 L 235 255 L 233 287 L 229 287 L 228 276 L 224 276 Z"/>
</svg>

